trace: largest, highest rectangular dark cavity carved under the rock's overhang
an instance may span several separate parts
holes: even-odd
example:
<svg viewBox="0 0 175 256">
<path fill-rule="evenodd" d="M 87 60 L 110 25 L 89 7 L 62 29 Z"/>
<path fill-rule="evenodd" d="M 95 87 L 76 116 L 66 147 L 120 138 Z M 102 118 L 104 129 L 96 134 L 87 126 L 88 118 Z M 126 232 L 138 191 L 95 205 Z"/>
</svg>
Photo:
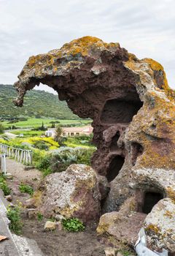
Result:
<svg viewBox="0 0 175 256">
<path fill-rule="evenodd" d="M 104 105 L 101 113 L 101 121 L 107 124 L 127 124 L 132 121 L 133 116 L 139 111 L 143 103 L 138 99 L 109 99 Z"/>
</svg>

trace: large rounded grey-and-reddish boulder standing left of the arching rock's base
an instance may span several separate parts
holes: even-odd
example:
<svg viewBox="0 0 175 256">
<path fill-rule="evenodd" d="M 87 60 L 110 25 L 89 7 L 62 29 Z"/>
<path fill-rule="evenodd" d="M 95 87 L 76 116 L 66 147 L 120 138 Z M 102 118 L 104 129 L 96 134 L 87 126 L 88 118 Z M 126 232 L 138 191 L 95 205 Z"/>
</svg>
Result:
<svg viewBox="0 0 175 256">
<path fill-rule="evenodd" d="M 77 217 L 82 222 L 100 216 L 101 194 L 96 172 L 88 165 L 70 165 L 42 181 L 32 199 L 45 217 Z"/>
</svg>

